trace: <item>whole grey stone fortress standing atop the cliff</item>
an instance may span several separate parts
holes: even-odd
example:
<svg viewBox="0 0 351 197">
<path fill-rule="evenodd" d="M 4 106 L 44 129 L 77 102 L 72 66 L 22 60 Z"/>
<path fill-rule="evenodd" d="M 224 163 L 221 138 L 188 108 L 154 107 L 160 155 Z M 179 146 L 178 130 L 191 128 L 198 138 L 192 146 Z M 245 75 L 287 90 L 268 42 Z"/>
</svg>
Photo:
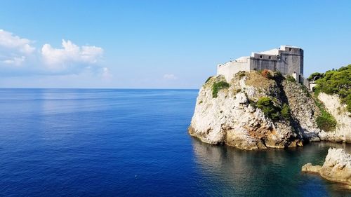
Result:
<svg viewBox="0 0 351 197">
<path fill-rule="evenodd" d="M 296 46 L 280 46 L 250 56 L 239 57 L 225 64 L 218 64 L 217 74 L 232 80 L 239 71 L 270 69 L 283 75 L 291 75 L 296 82 L 309 87 L 307 79 L 303 78 L 303 49 Z"/>
</svg>

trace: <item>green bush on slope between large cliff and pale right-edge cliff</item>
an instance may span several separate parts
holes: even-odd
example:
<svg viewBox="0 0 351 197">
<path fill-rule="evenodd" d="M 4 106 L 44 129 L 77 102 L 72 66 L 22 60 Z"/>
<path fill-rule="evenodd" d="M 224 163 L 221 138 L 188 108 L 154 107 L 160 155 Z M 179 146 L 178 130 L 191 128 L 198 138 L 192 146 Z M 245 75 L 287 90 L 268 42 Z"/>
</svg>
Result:
<svg viewBox="0 0 351 197">
<path fill-rule="evenodd" d="M 324 130 L 324 131 L 332 131 L 335 130 L 336 128 L 336 119 L 329 114 L 328 111 L 326 111 L 324 105 L 322 102 L 319 102 L 319 100 L 315 100 L 317 107 L 319 108 L 319 111 L 321 111 L 321 115 L 319 115 L 316 119 L 316 123 L 318 128 Z"/>
</svg>

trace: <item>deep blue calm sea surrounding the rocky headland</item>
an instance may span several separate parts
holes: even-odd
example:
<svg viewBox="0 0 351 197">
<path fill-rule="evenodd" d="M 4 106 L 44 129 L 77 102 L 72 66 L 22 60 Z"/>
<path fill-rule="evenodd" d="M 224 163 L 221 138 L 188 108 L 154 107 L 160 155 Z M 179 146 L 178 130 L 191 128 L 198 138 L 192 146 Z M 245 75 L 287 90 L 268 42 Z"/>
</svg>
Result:
<svg viewBox="0 0 351 197">
<path fill-rule="evenodd" d="M 0 89 L 0 196 L 351 196 L 300 172 L 329 147 L 187 134 L 198 90 Z"/>
</svg>

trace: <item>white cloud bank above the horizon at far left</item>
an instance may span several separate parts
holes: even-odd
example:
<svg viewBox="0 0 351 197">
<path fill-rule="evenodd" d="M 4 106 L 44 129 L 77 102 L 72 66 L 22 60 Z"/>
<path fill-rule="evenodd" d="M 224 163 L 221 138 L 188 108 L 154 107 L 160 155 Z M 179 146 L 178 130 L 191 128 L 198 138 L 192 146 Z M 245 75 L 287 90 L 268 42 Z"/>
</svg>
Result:
<svg viewBox="0 0 351 197">
<path fill-rule="evenodd" d="M 64 75 L 81 72 L 110 76 L 107 67 L 100 67 L 104 50 L 98 46 L 77 46 L 62 39 L 62 48 L 45 43 L 40 50 L 34 41 L 0 29 L 0 68 L 6 76 Z"/>
</svg>

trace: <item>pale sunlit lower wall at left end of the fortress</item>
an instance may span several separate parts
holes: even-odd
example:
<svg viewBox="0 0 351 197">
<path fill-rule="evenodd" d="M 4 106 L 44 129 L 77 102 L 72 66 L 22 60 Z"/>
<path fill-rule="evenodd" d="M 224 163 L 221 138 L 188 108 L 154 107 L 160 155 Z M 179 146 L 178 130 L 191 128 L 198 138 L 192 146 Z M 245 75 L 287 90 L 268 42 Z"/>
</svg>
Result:
<svg viewBox="0 0 351 197">
<path fill-rule="evenodd" d="M 224 75 L 227 82 L 239 71 L 250 71 L 250 62 L 227 62 L 217 67 L 217 74 Z"/>
</svg>

